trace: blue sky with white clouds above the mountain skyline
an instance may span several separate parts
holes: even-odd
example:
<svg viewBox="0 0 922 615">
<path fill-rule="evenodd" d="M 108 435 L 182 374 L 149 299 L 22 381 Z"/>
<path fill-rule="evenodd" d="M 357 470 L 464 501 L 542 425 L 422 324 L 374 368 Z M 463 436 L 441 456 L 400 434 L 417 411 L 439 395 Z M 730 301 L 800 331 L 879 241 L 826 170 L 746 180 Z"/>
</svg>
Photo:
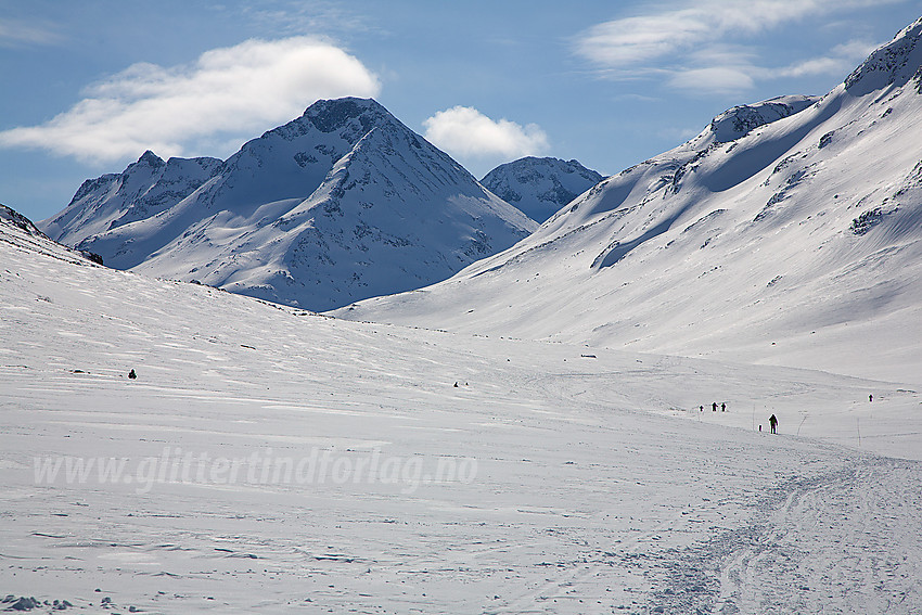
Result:
<svg viewBox="0 0 922 615">
<path fill-rule="evenodd" d="M 737 104 L 825 93 L 906 0 L 0 0 L 0 203 L 33 219 L 145 149 L 225 158 L 318 98 L 373 97 L 478 178 L 610 175 Z"/>
</svg>

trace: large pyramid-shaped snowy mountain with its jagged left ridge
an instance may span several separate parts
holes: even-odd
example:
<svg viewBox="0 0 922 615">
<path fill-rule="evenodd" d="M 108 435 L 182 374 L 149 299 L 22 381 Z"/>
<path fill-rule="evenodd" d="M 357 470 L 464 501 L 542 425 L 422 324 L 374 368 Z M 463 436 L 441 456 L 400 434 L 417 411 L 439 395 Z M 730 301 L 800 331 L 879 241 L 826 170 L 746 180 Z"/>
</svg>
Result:
<svg viewBox="0 0 922 615">
<path fill-rule="evenodd" d="M 223 163 L 145 153 L 41 226 L 115 268 L 315 310 L 437 282 L 537 227 L 353 98 L 317 102 Z"/>
</svg>

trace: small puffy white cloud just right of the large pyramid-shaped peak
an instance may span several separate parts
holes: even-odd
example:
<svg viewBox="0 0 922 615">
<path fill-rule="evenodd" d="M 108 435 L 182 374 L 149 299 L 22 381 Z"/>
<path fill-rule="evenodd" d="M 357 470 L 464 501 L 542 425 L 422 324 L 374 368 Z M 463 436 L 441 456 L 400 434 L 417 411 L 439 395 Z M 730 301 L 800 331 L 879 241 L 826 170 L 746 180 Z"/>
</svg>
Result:
<svg viewBox="0 0 922 615">
<path fill-rule="evenodd" d="M 520 158 L 548 150 L 548 136 L 536 124 L 494 120 L 470 106 L 439 111 L 425 121 L 425 138 L 459 157 Z"/>
</svg>

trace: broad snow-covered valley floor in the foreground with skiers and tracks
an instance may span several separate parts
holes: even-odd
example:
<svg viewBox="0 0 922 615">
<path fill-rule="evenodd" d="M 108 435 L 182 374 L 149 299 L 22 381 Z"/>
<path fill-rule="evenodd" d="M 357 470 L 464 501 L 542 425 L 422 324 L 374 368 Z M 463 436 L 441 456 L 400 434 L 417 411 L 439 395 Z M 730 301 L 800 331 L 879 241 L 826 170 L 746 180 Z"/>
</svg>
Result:
<svg viewBox="0 0 922 615">
<path fill-rule="evenodd" d="M 922 612 L 919 383 L 344 322 L 4 233 L 3 595 Z"/>
</svg>

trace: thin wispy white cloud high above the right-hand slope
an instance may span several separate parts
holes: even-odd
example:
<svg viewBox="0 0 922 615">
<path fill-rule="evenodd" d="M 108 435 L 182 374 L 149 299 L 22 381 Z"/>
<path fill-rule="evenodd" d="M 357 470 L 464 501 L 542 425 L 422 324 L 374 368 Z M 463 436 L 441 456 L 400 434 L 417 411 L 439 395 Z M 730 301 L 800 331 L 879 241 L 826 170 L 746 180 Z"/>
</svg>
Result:
<svg viewBox="0 0 922 615">
<path fill-rule="evenodd" d="M 673 88 L 743 91 L 756 79 L 834 74 L 874 46 L 855 42 L 791 66 L 756 62 L 747 38 L 809 17 L 904 0 L 692 0 L 651 4 L 642 14 L 592 26 L 575 39 L 575 51 L 605 76 L 633 79 L 657 75 Z"/>
</svg>

